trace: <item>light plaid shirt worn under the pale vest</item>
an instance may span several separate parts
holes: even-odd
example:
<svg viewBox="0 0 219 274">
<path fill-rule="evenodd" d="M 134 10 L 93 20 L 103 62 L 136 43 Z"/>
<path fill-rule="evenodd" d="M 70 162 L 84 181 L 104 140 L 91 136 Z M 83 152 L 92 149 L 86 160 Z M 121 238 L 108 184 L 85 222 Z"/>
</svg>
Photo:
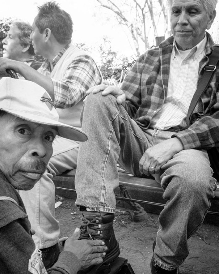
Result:
<svg viewBox="0 0 219 274">
<path fill-rule="evenodd" d="M 41 74 L 51 78 L 51 72 L 65 51 L 69 48 L 68 44 L 63 48 L 52 61 L 46 59 L 42 66 L 37 70 Z M 53 81 L 55 107 L 64 109 L 77 104 L 86 95 L 86 91 L 101 83 L 101 75 L 94 60 L 88 55 L 76 57 L 67 67 L 64 78 L 60 81 L 51 78 Z"/>
</svg>

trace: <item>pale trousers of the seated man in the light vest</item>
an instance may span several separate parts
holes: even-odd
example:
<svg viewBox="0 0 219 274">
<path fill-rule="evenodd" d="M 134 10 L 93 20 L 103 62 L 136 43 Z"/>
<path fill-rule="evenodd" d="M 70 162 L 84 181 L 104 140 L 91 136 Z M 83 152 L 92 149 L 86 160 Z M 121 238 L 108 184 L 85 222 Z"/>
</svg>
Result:
<svg viewBox="0 0 219 274">
<path fill-rule="evenodd" d="M 36 246 L 44 249 L 59 240 L 59 222 L 55 219 L 55 185 L 53 177 L 77 166 L 77 142 L 57 136 L 53 142 L 53 156 L 42 178 L 28 191 L 19 191 L 27 211 Z"/>
</svg>

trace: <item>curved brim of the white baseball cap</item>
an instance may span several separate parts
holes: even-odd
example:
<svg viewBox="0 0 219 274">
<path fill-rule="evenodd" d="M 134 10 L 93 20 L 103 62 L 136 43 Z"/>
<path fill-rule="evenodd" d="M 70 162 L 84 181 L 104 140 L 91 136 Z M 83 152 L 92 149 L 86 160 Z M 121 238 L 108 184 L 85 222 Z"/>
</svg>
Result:
<svg viewBox="0 0 219 274">
<path fill-rule="evenodd" d="M 74 126 L 69 126 L 69 125 L 63 124 L 61 122 L 54 121 L 52 119 L 42 117 L 37 114 L 26 113 L 26 112 L 19 111 L 19 110 L 16 110 L 13 112 L 11 110 L 4 109 L 4 108 L 1 108 L 1 110 L 6 111 L 7 113 L 10 113 L 12 115 L 15 115 L 19 118 L 22 118 L 22 119 L 30 121 L 30 122 L 48 125 L 48 126 L 56 126 L 57 130 L 58 130 L 57 135 L 59 135 L 63 138 L 78 141 L 78 142 L 85 142 L 87 140 L 86 133 Z"/>
</svg>

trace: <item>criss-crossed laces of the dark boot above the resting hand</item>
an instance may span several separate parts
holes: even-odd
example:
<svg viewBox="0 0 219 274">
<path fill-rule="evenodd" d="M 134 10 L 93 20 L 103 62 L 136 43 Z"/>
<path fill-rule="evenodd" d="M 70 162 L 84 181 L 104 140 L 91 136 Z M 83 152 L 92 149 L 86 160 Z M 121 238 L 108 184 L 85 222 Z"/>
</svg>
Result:
<svg viewBox="0 0 219 274">
<path fill-rule="evenodd" d="M 93 219 L 93 220 L 88 220 L 87 218 L 85 218 L 84 216 L 79 216 L 82 221 L 81 221 L 81 239 L 87 239 L 88 236 L 91 240 L 95 240 L 96 236 L 98 235 L 98 233 L 101 233 L 101 231 L 99 231 L 99 220 L 97 219 Z M 99 235 L 98 235 L 99 236 Z"/>
</svg>

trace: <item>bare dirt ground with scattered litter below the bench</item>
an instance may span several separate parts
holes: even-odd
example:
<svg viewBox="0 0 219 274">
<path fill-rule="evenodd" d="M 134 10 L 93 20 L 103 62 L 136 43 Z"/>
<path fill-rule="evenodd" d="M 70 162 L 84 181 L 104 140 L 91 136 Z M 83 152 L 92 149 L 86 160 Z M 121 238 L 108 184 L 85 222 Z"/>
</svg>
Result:
<svg viewBox="0 0 219 274">
<path fill-rule="evenodd" d="M 79 211 L 74 199 L 57 196 L 62 204 L 56 208 L 61 237 L 70 236 L 80 227 Z M 158 215 L 148 214 L 147 221 L 134 222 L 133 210 L 117 205 L 114 231 L 120 256 L 128 259 L 135 274 L 151 274 L 152 244 L 158 229 Z M 219 227 L 203 224 L 189 240 L 190 254 L 180 266 L 180 274 L 219 274 Z"/>
</svg>

